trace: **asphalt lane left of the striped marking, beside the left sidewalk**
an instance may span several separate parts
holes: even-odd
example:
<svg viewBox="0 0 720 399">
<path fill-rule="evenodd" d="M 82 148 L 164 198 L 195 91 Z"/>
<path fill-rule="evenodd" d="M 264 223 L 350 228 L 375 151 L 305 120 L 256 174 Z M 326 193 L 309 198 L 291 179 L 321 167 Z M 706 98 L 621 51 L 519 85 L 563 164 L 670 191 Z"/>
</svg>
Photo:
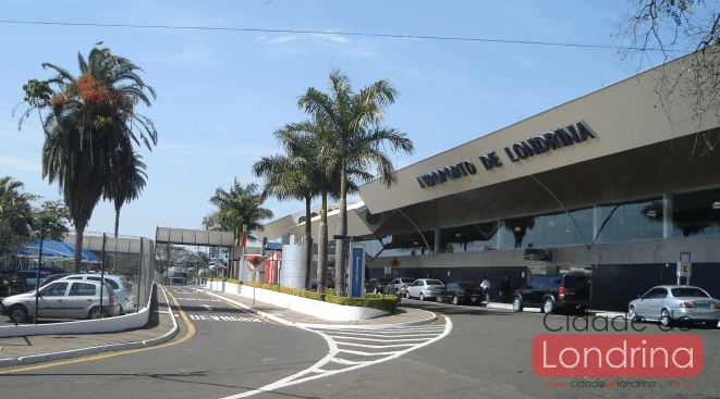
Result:
<svg viewBox="0 0 720 399">
<path fill-rule="evenodd" d="M 315 333 L 258 319 L 191 289 L 170 286 L 170 294 L 192 323 L 181 321 L 174 345 L 2 373 L 0 397 L 220 398 L 295 374 L 328 352 Z"/>
</svg>

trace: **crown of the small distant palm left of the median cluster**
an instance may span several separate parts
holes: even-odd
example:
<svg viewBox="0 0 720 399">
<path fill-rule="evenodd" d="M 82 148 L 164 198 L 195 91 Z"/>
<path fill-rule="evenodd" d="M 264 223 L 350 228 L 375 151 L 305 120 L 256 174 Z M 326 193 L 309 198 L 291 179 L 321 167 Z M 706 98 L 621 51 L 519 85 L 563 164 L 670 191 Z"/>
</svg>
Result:
<svg viewBox="0 0 720 399">
<path fill-rule="evenodd" d="M 215 221 L 218 228 L 235 232 L 235 236 L 239 237 L 243 225 L 247 225 L 247 239 L 257 240 L 254 232 L 264 229 L 260 221 L 273 216 L 272 211 L 261 208 L 265 198 L 257 190 L 256 184 L 251 183 L 243 186 L 237 182 L 237 177 L 230 187 L 230 191 L 218 187 L 215 196 L 210 197 L 210 203 L 218 207 Z"/>
</svg>

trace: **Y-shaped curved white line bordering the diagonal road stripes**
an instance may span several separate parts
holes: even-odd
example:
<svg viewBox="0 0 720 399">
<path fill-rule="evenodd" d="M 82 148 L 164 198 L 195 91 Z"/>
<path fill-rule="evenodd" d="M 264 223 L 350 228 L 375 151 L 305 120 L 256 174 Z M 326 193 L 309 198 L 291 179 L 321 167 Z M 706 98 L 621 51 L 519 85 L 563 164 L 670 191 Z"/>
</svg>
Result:
<svg viewBox="0 0 720 399">
<path fill-rule="evenodd" d="M 418 344 L 416 346 L 413 346 L 412 348 L 407 348 L 407 349 L 404 349 L 404 350 L 401 350 L 401 351 L 378 352 L 378 353 L 368 353 L 368 352 L 358 352 L 358 351 L 353 351 L 353 350 L 339 349 L 338 344 L 340 344 L 340 345 L 343 345 L 343 344 L 342 342 L 335 342 L 331 337 L 326 335 L 324 332 L 314 331 L 314 329 L 307 328 L 307 327 L 300 327 L 300 328 L 303 328 L 303 329 L 306 329 L 306 331 L 309 331 L 309 332 L 313 332 L 313 333 L 317 333 L 322 338 L 325 338 L 326 341 L 328 341 L 328 346 L 330 347 L 330 351 L 328 352 L 328 354 L 325 358 L 322 358 L 320 361 L 315 363 L 309 369 L 306 369 L 306 370 L 304 370 L 300 373 L 293 374 L 293 375 L 291 375 L 286 378 L 280 379 L 276 383 L 272 383 L 272 384 L 268 384 L 268 385 L 266 385 L 261 388 L 255 389 L 255 390 L 249 390 L 247 392 L 229 396 L 229 397 L 225 397 L 225 398 L 222 398 L 222 399 L 246 398 L 248 396 L 253 396 L 253 395 L 257 395 L 257 394 L 261 394 L 261 392 L 269 392 L 269 391 L 281 389 L 281 388 L 289 387 L 289 386 L 292 386 L 292 385 L 297 385 L 297 384 L 306 383 L 306 382 L 309 382 L 309 381 L 313 381 L 313 379 L 322 378 L 322 377 L 327 377 L 327 376 L 334 375 L 334 374 L 340 374 L 340 373 L 344 373 L 344 372 L 349 372 L 349 371 L 353 371 L 353 370 L 367 367 L 367 366 L 373 365 L 373 364 L 378 364 L 378 363 L 387 362 L 388 360 L 400 358 L 401 356 L 403 356 L 405 353 L 408 353 L 413 350 L 426 347 L 426 346 L 428 346 L 428 345 L 430 345 L 435 341 L 438 341 L 438 340 L 444 338 L 446 336 L 448 336 L 448 334 L 450 334 L 450 332 L 452 331 L 452 322 L 450 321 L 450 317 L 448 317 L 448 316 L 444 316 L 444 319 L 446 319 L 444 329 L 442 331 L 442 334 L 438 335 L 437 337 L 431 338 L 426 342 Z M 346 359 L 335 358 L 334 356 L 339 352 L 347 352 L 347 353 L 362 354 L 362 356 L 387 356 L 387 357 L 382 358 L 382 359 L 378 359 L 378 360 L 370 360 L 370 361 L 351 361 L 351 360 L 346 360 Z M 347 367 L 347 369 L 332 370 L 332 371 L 327 371 L 327 370 L 321 369 L 325 364 L 327 364 L 328 362 L 331 362 L 331 361 L 335 362 L 335 363 L 340 363 L 340 364 L 351 365 L 351 366 Z M 307 376 L 310 373 L 315 373 L 315 375 Z"/>
</svg>

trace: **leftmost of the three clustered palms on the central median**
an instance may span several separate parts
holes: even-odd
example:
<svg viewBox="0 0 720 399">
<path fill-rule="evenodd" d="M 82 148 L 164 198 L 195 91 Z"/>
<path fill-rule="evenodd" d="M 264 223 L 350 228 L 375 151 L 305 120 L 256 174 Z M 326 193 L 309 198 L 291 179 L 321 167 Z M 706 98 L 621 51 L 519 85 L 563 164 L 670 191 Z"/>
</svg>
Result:
<svg viewBox="0 0 720 399">
<path fill-rule="evenodd" d="M 308 137 L 294 137 L 288 126 L 277 130 L 274 136 L 285 147 L 286 154 L 263 157 L 253 165 L 253 174 L 265 178 L 264 197 L 273 196 L 280 201 L 305 200 L 304 264 L 301 280 L 303 288 L 309 289 L 313 261 L 310 201 L 318 195 L 317 180 L 320 174 L 314 157 L 317 151 Z"/>
</svg>

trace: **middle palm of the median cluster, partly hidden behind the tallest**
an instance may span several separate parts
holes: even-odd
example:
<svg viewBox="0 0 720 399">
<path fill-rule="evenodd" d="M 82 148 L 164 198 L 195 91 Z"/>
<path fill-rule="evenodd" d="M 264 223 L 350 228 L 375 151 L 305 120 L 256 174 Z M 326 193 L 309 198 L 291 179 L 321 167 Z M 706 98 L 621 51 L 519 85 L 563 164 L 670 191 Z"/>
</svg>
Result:
<svg viewBox="0 0 720 399">
<path fill-rule="evenodd" d="M 318 119 L 308 120 L 302 123 L 292 123 L 285 125 L 282 129 L 282 142 L 285 148 L 290 148 L 295 160 L 298 163 L 313 169 L 312 180 L 316 190 L 319 191 L 322 199 L 322 209 L 320 211 L 320 225 L 318 232 L 318 264 L 317 264 L 317 291 L 325 292 L 328 278 L 328 198 L 340 198 L 340 162 L 333 157 L 331 151 L 324 150 L 324 144 L 332 135 L 332 125 L 328 121 Z M 298 151 L 294 148 L 302 147 L 302 144 L 309 139 L 307 144 L 312 150 Z M 347 175 L 351 178 L 347 182 L 347 192 L 357 192 L 357 182 L 368 182 L 373 175 L 365 171 L 347 169 Z M 306 211 L 308 212 L 308 211 Z M 309 216 L 306 216 L 309 220 Z M 306 229 L 309 225 L 305 226 Z M 307 233 L 306 233 L 307 234 Z"/>
</svg>

